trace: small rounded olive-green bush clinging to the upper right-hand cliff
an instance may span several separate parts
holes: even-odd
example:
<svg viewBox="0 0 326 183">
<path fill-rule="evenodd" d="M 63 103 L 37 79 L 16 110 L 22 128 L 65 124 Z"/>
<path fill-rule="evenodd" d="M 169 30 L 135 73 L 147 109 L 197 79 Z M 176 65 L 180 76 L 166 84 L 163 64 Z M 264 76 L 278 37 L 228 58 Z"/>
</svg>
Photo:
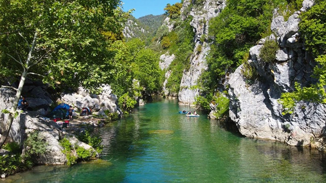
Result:
<svg viewBox="0 0 326 183">
<path fill-rule="evenodd" d="M 275 60 L 277 50 L 279 50 L 279 46 L 275 40 L 266 40 L 264 47 L 260 50 L 259 57 L 264 62 L 272 63 Z"/>
</svg>

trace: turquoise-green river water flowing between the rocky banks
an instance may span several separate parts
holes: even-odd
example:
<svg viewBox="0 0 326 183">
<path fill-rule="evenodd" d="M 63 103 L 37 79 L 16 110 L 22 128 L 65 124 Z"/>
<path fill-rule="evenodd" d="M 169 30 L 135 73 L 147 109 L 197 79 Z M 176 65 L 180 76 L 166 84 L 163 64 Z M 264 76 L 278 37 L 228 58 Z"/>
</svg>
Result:
<svg viewBox="0 0 326 183">
<path fill-rule="evenodd" d="M 103 161 L 38 166 L 6 181 L 326 182 L 323 153 L 240 137 L 200 112 L 199 118 L 178 114 L 183 109 L 190 110 L 175 100 L 146 104 L 97 129 Z"/>
</svg>

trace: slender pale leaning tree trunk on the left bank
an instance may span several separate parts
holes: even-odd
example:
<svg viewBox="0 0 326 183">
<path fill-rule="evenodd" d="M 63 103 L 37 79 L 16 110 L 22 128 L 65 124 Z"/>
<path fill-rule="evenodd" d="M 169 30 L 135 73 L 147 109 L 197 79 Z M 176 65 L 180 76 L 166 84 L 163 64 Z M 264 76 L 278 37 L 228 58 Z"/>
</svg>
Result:
<svg viewBox="0 0 326 183">
<path fill-rule="evenodd" d="M 9 116 L 8 116 L 8 121 L 7 121 L 6 125 L 5 125 L 5 129 L 4 129 L 3 133 L 2 133 L 2 136 L 0 137 L 0 149 L 2 148 L 3 144 L 7 140 L 7 137 L 9 136 L 9 132 L 10 132 L 12 122 L 14 121 L 16 109 L 17 109 L 17 106 L 18 106 L 18 101 L 19 101 L 19 98 L 20 98 L 20 96 L 22 94 L 22 87 L 25 84 L 25 79 L 26 79 L 26 76 L 28 75 L 29 66 L 32 65 L 30 63 L 30 61 L 32 59 L 32 54 L 33 54 L 33 51 L 34 51 L 34 48 L 35 48 L 35 45 L 36 45 L 36 40 L 37 40 L 37 33 L 34 34 L 32 47 L 29 47 L 29 44 L 27 42 L 28 47 L 29 47 L 29 52 L 28 52 L 28 56 L 27 56 L 25 65 L 22 63 L 21 60 L 19 61 L 21 63 L 21 65 L 22 65 L 24 71 L 22 72 L 22 77 L 21 77 L 21 80 L 19 82 L 19 86 L 16 89 L 17 92 L 16 92 L 15 99 L 14 99 L 14 101 L 12 103 L 11 109 L 9 111 L 10 113 L 9 113 Z"/>
</svg>

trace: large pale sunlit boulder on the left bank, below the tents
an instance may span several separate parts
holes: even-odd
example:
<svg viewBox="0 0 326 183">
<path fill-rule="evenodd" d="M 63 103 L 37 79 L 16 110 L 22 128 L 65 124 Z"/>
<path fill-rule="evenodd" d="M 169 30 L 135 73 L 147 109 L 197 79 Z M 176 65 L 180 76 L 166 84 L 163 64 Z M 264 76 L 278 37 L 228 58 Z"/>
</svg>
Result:
<svg viewBox="0 0 326 183">
<path fill-rule="evenodd" d="M 7 124 L 8 114 L 1 112 L 4 109 L 11 108 L 15 92 L 7 88 L 0 88 L 0 134 L 3 133 L 4 126 Z M 71 144 L 77 144 L 85 149 L 92 149 L 90 145 L 79 141 L 74 135 L 65 132 L 54 121 L 45 120 L 39 116 L 37 111 L 19 113 L 14 119 L 10 128 L 7 142 L 17 142 L 23 147 L 23 143 L 28 134 L 38 131 L 38 136 L 47 143 L 46 152 L 35 159 L 36 164 L 65 164 L 67 157 L 62 152 L 63 147 L 59 140 L 67 138 Z M 0 136 L 1 137 L 1 136 Z M 23 147 L 28 148 L 28 147 Z"/>
</svg>

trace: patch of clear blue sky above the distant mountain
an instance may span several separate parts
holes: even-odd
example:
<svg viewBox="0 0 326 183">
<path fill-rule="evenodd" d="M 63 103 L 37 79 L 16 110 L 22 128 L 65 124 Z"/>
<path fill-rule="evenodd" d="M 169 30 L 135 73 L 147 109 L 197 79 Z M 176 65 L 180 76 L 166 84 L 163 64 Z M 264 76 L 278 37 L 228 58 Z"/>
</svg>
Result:
<svg viewBox="0 0 326 183">
<path fill-rule="evenodd" d="M 180 3 L 181 0 L 122 0 L 124 11 L 135 8 L 132 14 L 136 19 L 145 15 L 161 15 L 165 6 L 170 3 Z"/>
</svg>

